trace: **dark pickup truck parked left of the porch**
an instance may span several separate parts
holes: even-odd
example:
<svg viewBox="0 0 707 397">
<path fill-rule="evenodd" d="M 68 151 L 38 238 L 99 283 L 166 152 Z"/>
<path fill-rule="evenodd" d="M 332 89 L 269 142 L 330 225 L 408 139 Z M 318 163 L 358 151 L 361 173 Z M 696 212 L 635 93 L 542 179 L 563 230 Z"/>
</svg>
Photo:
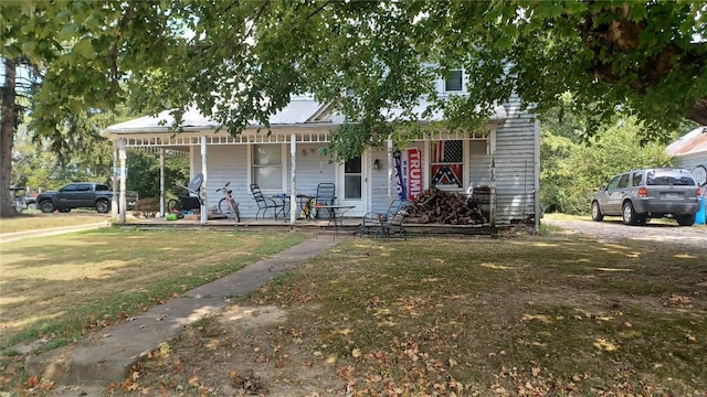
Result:
<svg viewBox="0 0 707 397">
<path fill-rule="evenodd" d="M 127 192 L 127 208 L 133 210 L 137 192 Z M 113 192 L 108 185 L 94 182 L 70 183 L 57 192 L 42 192 L 36 196 L 36 206 L 44 213 L 70 212 L 73 208 L 96 208 L 102 214 L 110 212 Z"/>
</svg>

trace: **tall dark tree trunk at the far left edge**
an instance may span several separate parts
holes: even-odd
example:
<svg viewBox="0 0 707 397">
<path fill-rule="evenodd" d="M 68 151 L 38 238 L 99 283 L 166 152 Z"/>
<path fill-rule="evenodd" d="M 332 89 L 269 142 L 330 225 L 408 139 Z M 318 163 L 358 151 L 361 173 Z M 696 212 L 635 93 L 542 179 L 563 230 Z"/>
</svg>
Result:
<svg viewBox="0 0 707 397">
<path fill-rule="evenodd" d="M 14 130 L 17 114 L 14 109 L 15 97 L 15 63 L 4 58 L 4 87 L 2 89 L 2 125 L 0 126 L 0 217 L 17 215 L 14 198 L 10 191 L 12 176 L 12 146 L 14 143 Z"/>
</svg>

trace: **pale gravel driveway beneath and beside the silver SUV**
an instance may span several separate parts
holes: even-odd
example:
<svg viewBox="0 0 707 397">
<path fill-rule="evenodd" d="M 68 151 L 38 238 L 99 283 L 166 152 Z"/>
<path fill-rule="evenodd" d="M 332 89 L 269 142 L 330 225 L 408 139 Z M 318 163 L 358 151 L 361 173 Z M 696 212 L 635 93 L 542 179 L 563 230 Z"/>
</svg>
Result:
<svg viewBox="0 0 707 397">
<path fill-rule="evenodd" d="M 560 227 L 563 233 L 580 233 L 597 237 L 601 242 L 619 242 L 627 238 L 646 243 L 667 243 L 701 247 L 707 254 L 707 227 L 701 225 L 682 227 L 677 224 L 648 223 L 645 226 L 626 226 L 621 221 L 611 219 L 604 222 L 542 219 L 542 223 Z"/>
</svg>

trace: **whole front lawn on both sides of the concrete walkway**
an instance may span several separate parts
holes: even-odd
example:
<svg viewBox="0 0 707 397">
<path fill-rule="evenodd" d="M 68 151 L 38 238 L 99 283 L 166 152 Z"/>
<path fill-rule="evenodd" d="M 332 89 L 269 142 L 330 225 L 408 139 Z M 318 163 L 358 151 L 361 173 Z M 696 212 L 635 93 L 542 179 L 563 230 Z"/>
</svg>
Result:
<svg viewBox="0 0 707 397">
<path fill-rule="evenodd" d="M 3 347 L 70 342 L 302 237 L 108 229 L 6 244 Z M 577 235 L 342 240 L 235 302 L 282 321 L 200 321 L 106 393 L 220 396 L 255 368 L 273 393 L 699 395 L 706 258 Z M 8 380 L 22 356 L 3 360 L 3 389 L 27 390 Z"/>
</svg>

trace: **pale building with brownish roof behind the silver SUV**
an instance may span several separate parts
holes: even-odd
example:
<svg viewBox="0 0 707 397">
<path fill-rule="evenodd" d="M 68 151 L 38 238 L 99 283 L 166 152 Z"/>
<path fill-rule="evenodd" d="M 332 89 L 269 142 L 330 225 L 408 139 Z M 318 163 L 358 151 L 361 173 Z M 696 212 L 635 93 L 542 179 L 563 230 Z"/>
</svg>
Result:
<svg viewBox="0 0 707 397">
<path fill-rule="evenodd" d="M 690 171 L 707 191 L 707 126 L 697 127 L 671 143 L 665 153 L 673 158 L 673 165 Z"/>
</svg>

